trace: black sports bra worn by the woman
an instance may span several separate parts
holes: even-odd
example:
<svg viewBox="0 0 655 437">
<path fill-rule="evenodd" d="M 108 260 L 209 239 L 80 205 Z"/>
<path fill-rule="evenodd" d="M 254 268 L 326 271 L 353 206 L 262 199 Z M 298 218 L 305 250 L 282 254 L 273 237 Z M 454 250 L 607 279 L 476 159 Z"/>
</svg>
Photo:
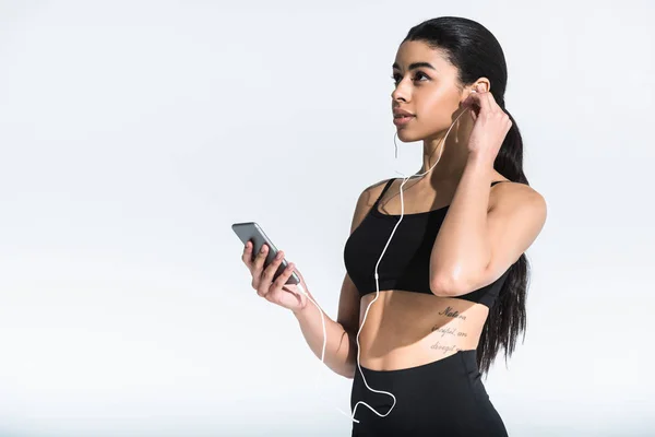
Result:
<svg viewBox="0 0 655 437">
<path fill-rule="evenodd" d="M 378 203 L 395 179 L 390 179 L 364 217 L 350 234 L 344 247 L 344 263 L 360 297 L 376 293 L 376 264 L 384 250 L 400 214 L 378 211 Z M 496 180 L 491 187 L 505 180 Z M 430 291 L 430 255 L 445 213 L 450 205 L 438 210 L 404 214 L 403 223 L 396 228 L 391 243 L 378 265 L 380 290 L 403 290 L 414 293 L 433 294 Z M 491 307 L 509 269 L 495 282 L 456 298 Z"/>
</svg>

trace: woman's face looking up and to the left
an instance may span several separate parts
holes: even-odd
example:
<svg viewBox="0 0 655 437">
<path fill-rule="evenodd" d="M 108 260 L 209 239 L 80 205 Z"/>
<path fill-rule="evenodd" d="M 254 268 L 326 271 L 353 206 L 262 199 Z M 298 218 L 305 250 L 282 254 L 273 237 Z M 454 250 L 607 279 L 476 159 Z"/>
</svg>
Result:
<svg viewBox="0 0 655 437">
<path fill-rule="evenodd" d="M 397 135 L 404 142 L 429 139 L 448 130 L 453 113 L 465 98 L 457 87 L 457 69 L 442 57 L 441 50 L 422 42 L 401 45 L 393 64 L 393 82 L 392 111 L 403 109 L 415 115 L 396 125 Z"/>
</svg>

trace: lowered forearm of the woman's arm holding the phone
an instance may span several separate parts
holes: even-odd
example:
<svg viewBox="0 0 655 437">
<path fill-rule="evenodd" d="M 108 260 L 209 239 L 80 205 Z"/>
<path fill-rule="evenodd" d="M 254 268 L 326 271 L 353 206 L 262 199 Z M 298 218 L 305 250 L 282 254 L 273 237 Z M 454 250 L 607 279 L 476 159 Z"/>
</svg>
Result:
<svg viewBox="0 0 655 437">
<path fill-rule="evenodd" d="M 307 294 L 315 302 L 311 293 L 307 292 Z M 341 323 L 332 320 L 324 311 L 319 310 L 311 300 L 307 302 L 303 309 L 294 311 L 307 344 L 314 355 L 321 359 L 323 324 L 319 311 L 323 312 L 325 335 L 327 338 L 324 356 L 325 365 L 338 375 L 353 378 L 357 359 L 357 342 L 354 335 L 349 334 Z"/>
</svg>

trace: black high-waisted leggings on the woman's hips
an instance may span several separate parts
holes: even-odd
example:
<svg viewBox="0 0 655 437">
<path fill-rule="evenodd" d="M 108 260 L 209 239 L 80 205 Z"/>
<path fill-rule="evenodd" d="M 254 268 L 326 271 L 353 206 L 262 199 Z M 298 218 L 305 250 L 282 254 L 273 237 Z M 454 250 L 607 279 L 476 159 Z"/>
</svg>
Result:
<svg viewBox="0 0 655 437">
<path fill-rule="evenodd" d="M 485 390 L 476 351 L 458 351 L 445 358 L 397 370 L 361 367 L 369 387 L 392 392 L 393 398 L 369 390 L 355 368 L 350 412 L 355 410 L 352 437 L 508 436 L 502 420 Z"/>
</svg>

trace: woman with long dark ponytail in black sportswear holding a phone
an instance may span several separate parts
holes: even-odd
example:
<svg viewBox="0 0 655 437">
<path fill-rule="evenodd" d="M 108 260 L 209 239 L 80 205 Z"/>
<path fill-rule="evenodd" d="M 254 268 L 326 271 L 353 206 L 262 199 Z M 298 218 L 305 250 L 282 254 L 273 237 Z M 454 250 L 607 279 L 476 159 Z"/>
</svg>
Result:
<svg viewBox="0 0 655 437">
<path fill-rule="evenodd" d="M 393 80 L 396 133 L 422 140 L 422 176 L 359 196 L 336 321 L 323 314 L 324 363 L 354 378 L 353 436 L 507 436 L 481 373 L 525 330 L 524 252 L 546 203 L 523 174 L 521 134 L 504 108 L 504 56 L 480 24 L 438 17 L 409 31 Z M 302 275 L 296 270 L 307 295 L 283 285 L 294 263 L 272 282 L 284 253 L 262 269 L 266 251 L 253 258 L 251 247 L 242 259 L 252 286 L 294 312 L 321 356 L 320 310 L 307 304 Z"/>
</svg>

